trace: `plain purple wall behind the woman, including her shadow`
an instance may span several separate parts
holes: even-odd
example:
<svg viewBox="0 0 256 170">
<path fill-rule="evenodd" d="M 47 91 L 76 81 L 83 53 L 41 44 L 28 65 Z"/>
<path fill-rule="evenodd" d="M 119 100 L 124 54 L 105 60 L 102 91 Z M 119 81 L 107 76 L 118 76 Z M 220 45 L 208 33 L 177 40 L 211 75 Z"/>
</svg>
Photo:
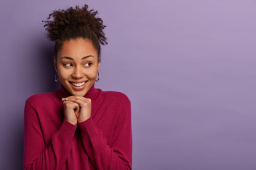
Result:
<svg viewBox="0 0 256 170">
<path fill-rule="evenodd" d="M 256 169 L 254 0 L 1 1 L 1 169 L 22 169 L 26 98 L 58 88 L 41 21 L 84 3 L 107 25 L 96 87 L 132 101 L 134 169 Z"/>
</svg>

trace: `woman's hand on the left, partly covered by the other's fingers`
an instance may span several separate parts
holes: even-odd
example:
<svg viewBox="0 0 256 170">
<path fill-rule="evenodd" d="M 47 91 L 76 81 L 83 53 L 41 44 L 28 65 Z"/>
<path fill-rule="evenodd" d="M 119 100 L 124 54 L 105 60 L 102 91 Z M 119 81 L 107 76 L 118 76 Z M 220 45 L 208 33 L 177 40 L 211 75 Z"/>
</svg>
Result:
<svg viewBox="0 0 256 170">
<path fill-rule="evenodd" d="M 80 110 L 78 103 L 68 101 L 65 98 L 63 98 L 62 101 L 65 120 L 67 120 L 69 123 L 72 123 L 73 125 L 77 125 L 79 116 L 78 114 Z"/>
</svg>

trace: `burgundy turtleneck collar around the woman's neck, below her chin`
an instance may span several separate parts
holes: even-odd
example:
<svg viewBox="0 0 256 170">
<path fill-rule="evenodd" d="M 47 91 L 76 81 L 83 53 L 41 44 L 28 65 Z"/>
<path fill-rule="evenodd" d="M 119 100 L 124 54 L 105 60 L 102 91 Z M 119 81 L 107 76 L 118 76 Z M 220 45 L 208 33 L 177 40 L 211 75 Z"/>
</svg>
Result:
<svg viewBox="0 0 256 170">
<path fill-rule="evenodd" d="M 61 85 L 61 88 L 58 89 L 56 91 L 58 97 L 61 98 L 65 98 L 68 96 L 72 96 L 72 94 L 70 94 L 64 87 L 63 85 Z M 90 98 L 91 100 L 95 100 L 97 98 L 98 95 L 98 91 L 97 89 L 95 89 L 95 85 L 93 84 L 93 86 L 91 87 L 91 89 L 89 91 L 87 91 L 87 93 L 85 94 L 85 98 Z"/>
</svg>

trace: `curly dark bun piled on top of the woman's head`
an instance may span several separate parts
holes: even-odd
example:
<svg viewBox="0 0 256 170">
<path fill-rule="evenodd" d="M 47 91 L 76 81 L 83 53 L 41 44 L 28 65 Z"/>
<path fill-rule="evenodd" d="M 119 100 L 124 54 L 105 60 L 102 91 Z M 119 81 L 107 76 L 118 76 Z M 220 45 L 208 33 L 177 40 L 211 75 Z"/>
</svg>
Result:
<svg viewBox="0 0 256 170">
<path fill-rule="evenodd" d="M 50 13 L 45 23 L 44 27 L 48 32 L 47 36 L 50 40 L 65 40 L 65 32 L 67 30 L 75 29 L 79 30 L 81 28 L 87 28 L 92 31 L 93 34 L 97 36 L 97 40 L 100 44 L 107 44 L 107 38 L 103 29 L 106 27 L 103 25 L 101 18 L 97 18 L 97 11 L 88 10 L 88 6 L 85 4 L 82 8 L 75 6 L 75 8 L 70 7 L 66 10 L 58 10 Z M 74 35 L 70 35 L 70 38 L 75 38 Z"/>
</svg>

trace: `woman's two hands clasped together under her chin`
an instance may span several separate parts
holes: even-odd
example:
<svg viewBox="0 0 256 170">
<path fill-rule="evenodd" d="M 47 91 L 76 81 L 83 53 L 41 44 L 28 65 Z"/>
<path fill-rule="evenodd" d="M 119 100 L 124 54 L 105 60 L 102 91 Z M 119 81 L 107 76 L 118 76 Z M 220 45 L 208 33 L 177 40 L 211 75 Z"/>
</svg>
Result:
<svg viewBox="0 0 256 170">
<path fill-rule="evenodd" d="M 77 125 L 91 116 L 92 101 L 82 96 L 62 98 L 64 118 L 69 123 Z"/>
</svg>

